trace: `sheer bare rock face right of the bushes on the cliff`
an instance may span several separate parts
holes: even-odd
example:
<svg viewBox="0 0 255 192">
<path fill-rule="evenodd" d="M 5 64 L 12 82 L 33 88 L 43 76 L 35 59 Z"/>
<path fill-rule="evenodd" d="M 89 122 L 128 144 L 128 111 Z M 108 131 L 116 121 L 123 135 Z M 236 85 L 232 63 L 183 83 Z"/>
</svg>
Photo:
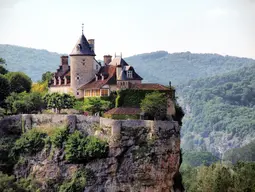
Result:
<svg viewBox="0 0 255 192">
<path fill-rule="evenodd" d="M 85 191 L 175 191 L 173 181 L 180 166 L 178 124 L 151 122 L 148 128 L 129 123 L 120 127 L 118 138 L 111 139 L 107 159 L 86 165 L 97 179 Z"/>
</svg>

